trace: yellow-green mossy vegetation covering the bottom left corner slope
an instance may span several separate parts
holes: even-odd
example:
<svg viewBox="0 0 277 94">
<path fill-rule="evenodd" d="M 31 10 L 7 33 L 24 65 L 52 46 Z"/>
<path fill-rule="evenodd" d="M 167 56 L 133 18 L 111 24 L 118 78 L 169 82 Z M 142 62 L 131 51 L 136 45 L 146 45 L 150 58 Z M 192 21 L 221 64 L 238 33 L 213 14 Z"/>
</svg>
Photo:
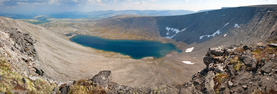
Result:
<svg viewBox="0 0 277 94">
<path fill-rule="evenodd" d="M 16 91 L 20 91 L 42 94 L 50 93 L 54 87 L 57 87 L 55 84 L 50 85 L 42 79 L 37 79 L 33 82 L 17 72 L 12 72 L 10 67 L 11 66 L 6 62 L 4 57 L 0 55 L 0 75 L 2 76 L 2 80 L 0 81 L 0 92 L 12 94 L 18 93 Z"/>
</svg>

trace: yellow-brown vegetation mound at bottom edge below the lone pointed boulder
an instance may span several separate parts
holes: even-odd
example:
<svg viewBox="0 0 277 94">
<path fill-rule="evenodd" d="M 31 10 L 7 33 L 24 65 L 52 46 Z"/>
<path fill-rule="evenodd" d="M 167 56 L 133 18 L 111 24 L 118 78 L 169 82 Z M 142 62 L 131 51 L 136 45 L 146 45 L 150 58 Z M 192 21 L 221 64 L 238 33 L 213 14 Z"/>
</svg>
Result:
<svg viewBox="0 0 277 94">
<path fill-rule="evenodd" d="M 74 85 L 69 86 L 69 94 L 106 94 L 107 91 L 94 84 L 91 80 L 78 80 Z"/>
</svg>

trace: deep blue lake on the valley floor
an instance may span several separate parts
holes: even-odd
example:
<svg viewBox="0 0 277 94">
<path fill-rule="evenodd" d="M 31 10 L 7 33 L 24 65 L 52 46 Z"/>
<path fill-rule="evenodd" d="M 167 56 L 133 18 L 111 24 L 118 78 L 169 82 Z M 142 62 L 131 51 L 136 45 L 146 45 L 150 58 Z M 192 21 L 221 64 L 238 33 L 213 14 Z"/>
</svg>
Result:
<svg viewBox="0 0 277 94">
<path fill-rule="evenodd" d="M 174 44 L 161 43 L 159 41 L 126 39 L 115 40 L 80 34 L 70 38 L 70 40 L 97 50 L 129 55 L 133 59 L 141 59 L 144 57 L 154 57 L 157 59 L 164 57 L 171 51 L 176 51 L 178 53 L 182 52 L 182 50 L 176 48 Z"/>
</svg>

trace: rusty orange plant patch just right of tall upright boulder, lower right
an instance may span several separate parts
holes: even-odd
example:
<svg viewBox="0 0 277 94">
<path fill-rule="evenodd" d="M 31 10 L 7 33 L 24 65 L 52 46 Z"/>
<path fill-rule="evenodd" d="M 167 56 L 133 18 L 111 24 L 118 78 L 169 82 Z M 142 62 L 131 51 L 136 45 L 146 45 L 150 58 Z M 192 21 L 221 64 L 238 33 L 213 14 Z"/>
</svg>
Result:
<svg viewBox="0 0 277 94">
<path fill-rule="evenodd" d="M 215 90 L 215 93 L 219 93 L 219 87 L 221 86 L 222 84 L 222 80 L 223 79 L 226 79 L 227 77 L 229 77 L 228 74 L 221 74 L 221 73 L 217 73 L 216 76 L 213 78 L 213 81 L 214 81 L 214 90 Z"/>
</svg>

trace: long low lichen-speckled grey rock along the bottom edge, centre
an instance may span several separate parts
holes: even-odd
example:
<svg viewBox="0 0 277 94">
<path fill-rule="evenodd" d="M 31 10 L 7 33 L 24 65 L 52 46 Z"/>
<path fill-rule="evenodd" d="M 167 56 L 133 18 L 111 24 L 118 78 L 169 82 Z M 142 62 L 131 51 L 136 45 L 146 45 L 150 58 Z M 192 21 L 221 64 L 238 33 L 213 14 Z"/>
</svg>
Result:
<svg viewBox="0 0 277 94">
<path fill-rule="evenodd" d="M 115 86 L 107 94 L 172 94 L 172 90 L 163 85 L 158 87 Z"/>
</svg>

